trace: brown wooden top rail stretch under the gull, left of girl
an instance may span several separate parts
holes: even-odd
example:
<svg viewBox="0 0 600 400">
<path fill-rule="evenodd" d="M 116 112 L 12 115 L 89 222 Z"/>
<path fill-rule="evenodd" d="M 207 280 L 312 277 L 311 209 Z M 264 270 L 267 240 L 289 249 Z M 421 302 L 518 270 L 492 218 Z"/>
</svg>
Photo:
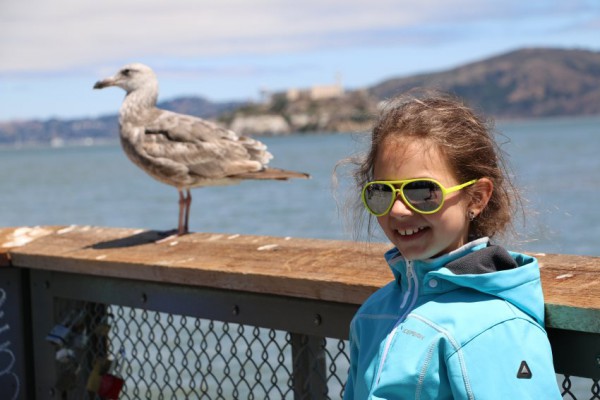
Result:
<svg viewBox="0 0 600 400">
<path fill-rule="evenodd" d="M 10 256 L 15 266 L 29 268 L 351 304 L 392 277 L 381 244 L 208 233 L 157 238 L 132 229 L 69 227 L 15 247 Z"/>
</svg>

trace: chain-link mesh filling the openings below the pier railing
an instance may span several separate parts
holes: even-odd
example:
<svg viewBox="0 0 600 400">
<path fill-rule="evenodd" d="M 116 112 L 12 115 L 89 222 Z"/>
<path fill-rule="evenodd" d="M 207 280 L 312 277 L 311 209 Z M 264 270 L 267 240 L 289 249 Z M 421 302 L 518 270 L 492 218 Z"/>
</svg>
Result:
<svg viewBox="0 0 600 400">
<path fill-rule="evenodd" d="M 56 302 L 61 322 L 47 340 L 57 349 L 56 388 L 63 398 L 343 397 L 345 340 L 119 305 Z M 565 399 L 600 399 L 598 380 L 565 376 L 561 385 Z"/>
</svg>

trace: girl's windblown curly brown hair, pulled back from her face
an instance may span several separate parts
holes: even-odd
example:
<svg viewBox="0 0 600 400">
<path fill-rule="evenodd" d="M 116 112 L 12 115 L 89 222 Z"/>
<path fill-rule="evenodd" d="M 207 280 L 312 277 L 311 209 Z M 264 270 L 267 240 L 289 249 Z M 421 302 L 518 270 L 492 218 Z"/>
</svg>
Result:
<svg viewBox="0 0 600 400">
<path fill-rule="evenodd" d="M 470 239 L 503 235 L 512 230 L 513 216 L 521 207 L 505 155 L 495 140 L 493 122 L 485 120 L 461 99 L 435 90 L 418 89 L 395 97 L 381 107 L 365 154 L 344 160 L 354 165 L 353 220 L 358 229 L 366 212 L 356 191 L 373 180 L 373 165 L 379 146 L 389 137 L 422 139 L 436 146 L 448 160 L 460 182 L 489 178 L 494 190 L 483 212 L 469 228 Z M 336 167 L 337 168 L 337 167 Z M 465 189 L 469 193 L 469 189 Z M 369 233 L 372 220 L 369 215 Z"/>
</svg>

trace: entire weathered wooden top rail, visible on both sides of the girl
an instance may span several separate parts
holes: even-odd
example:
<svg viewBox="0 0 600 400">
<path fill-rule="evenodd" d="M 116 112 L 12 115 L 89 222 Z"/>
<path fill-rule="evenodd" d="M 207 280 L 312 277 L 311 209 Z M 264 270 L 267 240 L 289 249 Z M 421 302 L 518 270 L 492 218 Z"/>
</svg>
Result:
<svg viewBox="0 0 600 400">
<path fill-rule="evenodd" d="M 392 274 L 389 245 L 100 227 L 0 229 L 0 263 L 361 304 Z M 1 250 L 3 249 L 3 250 Z M 600 333 L 600 258 L 534 254 L 549 326 Z"/>
</svg>

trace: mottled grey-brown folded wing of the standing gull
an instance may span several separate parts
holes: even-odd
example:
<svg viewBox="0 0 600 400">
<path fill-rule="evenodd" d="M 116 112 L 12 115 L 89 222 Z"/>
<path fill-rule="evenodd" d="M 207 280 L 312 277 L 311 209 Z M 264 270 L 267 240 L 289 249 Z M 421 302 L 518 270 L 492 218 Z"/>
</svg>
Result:
<svg viewBox="0 0 600 400">
<path fill-rule="evenodd" d="M 143 149 L 204 179 L 259 171 L 272 158 L 266 146 L 201 118 L 154 109 L 144 122 Z"/>
</svg>

